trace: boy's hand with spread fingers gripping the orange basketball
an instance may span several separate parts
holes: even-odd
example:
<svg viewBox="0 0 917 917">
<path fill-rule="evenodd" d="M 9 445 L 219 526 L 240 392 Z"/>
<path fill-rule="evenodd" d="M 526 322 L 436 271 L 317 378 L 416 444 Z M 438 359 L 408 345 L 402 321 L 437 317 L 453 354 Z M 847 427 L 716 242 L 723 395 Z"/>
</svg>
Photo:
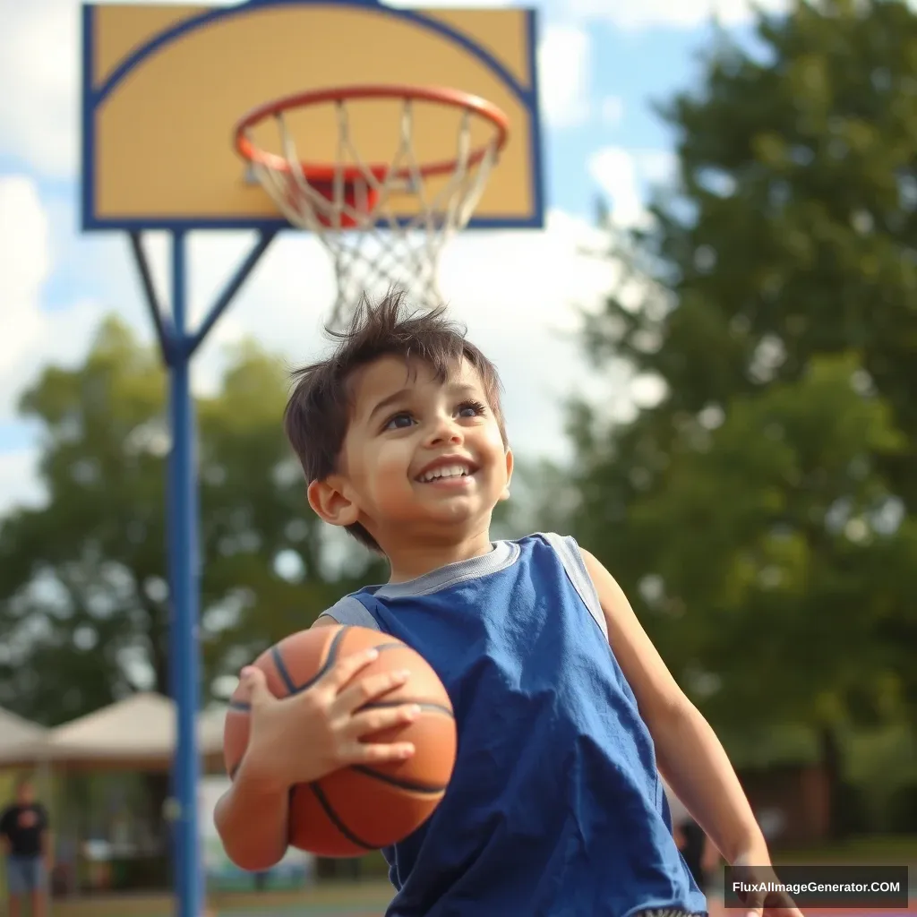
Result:
<svg viewBox="0 0 917 917">
<path fill-rule="evenodd" d="M 414 754 L 410 742 L 370 744 L 364 736 L 407 724 L 414 704 L 361 711 L 366 703 L 403 685 L 407 671 L 354 677 L 379 656 L 376 649 L 343 657 L 311 687 L 291 697 L 271 694 L 264 673 L 242 669 L 242 698 L 251 707 L 249 746 L 239 771 L 265 788 L 287 791 L 351 764 L 381 764 Z"/>
</svg>

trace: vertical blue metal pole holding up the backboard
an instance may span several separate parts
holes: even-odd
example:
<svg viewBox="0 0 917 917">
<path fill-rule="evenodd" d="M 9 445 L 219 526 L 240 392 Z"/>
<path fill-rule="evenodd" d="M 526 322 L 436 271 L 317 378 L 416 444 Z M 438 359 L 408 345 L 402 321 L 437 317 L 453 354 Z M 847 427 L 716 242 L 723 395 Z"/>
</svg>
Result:
<svg viewBox="0 0 917 917">
<path fill-rule="evenodd" d="M 198 831 L 197 785 L 200 763 L 196 721 L 200 696 L 198 658 L 198 520 L 194 462 L 194 411 L 187 332 L 185 237 L 172 235 L 172 319 L 175 344 L 171 360 L 171 467 L 169 538 L 172 620 L 170 647 L 178 717 L 173 779 L 178 801 L 174 877 L 176 917 L 204 911 L 204 874 Z"/>
</svg>

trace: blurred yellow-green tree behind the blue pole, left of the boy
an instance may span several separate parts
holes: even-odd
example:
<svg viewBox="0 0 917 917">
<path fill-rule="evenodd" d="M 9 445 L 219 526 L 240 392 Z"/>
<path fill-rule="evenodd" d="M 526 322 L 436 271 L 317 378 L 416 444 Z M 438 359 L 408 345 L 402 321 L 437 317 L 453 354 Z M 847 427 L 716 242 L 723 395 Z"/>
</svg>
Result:
<svg viewBox="0 0 917 917">
<path fill-rule="evenodd" d="M 168 693 L 165 390 L 156 354 L 112 319 L 83 366 L 50 367 L 23 395 L 48 503 L 0 523 L 0 705 L 57 724 L 140 688 Z M 205 698 L 381 575 L 306 505 L 286 392 L 280 362 L 246 344 L 197 405 Z"/>
</svg>

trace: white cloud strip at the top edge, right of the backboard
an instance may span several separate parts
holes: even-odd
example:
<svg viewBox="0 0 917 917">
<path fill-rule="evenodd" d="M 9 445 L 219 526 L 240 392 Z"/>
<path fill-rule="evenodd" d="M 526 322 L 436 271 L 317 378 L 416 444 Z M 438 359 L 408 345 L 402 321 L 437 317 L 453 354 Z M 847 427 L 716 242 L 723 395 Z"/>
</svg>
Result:
<svg viewBox="0 0 917 917">
<path fill-rule="evenodd" d="M 695 28 L 716 16 L 725 26 L 747 22 L 757 7 L 766 12 L 786 12 L 789 0 L 567 0 L 578 17 L 605 19 L 619 28 L 654 26 Z"/>
</svg>

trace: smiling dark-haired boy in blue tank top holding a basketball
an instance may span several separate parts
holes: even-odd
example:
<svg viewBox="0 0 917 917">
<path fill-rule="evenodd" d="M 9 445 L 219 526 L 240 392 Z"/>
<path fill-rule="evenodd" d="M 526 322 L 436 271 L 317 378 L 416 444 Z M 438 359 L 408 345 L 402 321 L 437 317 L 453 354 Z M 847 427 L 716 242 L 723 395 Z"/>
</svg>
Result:
<svg viewBox="0 0 917 917">
<path fill-rule="evenodd" d="M 729 862 L 767 864 L 764 838 L 710 726 L 602 564 L 570 538 L 491 541 L 513 473 L 496 370 L 442 311 L 409 315 L 402 294 L 363 304 L 337 337 L 330 359 L 298 373 L 285 428 L 315 513 L 380 551 L 391 577 L 315 626 L 373 627 L 413 646 L 458 726 L 444 800 L 384 851 L 389 917 L 706 911 L 659 771 Z M 294 783 L 413 753 L 361 741 L 414 716 L 361 712 L 408 677 L 359 679 L 370 657 L 346 657 L 282 701 L 243 670 L 249 749 L 215 812 L 240 867 L 283 855 Z"/>
</svg>

